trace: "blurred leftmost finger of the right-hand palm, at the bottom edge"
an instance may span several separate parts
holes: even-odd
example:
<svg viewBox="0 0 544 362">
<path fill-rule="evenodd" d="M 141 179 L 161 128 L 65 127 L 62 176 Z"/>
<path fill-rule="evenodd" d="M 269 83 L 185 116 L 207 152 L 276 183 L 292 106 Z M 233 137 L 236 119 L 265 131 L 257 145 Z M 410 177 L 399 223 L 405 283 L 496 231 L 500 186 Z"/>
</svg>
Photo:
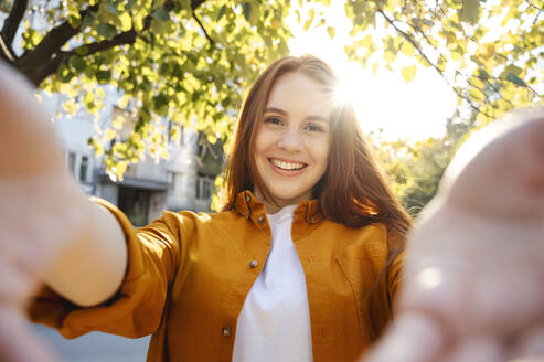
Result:
<svg viewBox="0 0 544 362">
<path fill-rule="evenodd" d="M 417 312 L 401 315 L 365 356 L 367 362 L 437 361 L 446 334 L 436 320 Z"/>
</svg>

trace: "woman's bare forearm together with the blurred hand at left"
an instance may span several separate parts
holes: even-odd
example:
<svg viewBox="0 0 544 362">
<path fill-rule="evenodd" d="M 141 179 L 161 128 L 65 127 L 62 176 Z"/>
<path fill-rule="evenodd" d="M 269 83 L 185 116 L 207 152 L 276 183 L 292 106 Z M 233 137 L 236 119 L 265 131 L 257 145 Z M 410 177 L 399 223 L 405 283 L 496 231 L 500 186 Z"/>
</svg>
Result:
<svg viewBox="0 0 544 362">
<path fill-rule="evenodd" d="M 125 239 L 66 171 L 32 88 L 3 64 L 0 121 L 0 360 L 45 361 L 29 348 L 39 343 L 19 317 L 24 305 L 44 278 L 76 304 L 104 301 L 124 276 Z"/>
</svg>

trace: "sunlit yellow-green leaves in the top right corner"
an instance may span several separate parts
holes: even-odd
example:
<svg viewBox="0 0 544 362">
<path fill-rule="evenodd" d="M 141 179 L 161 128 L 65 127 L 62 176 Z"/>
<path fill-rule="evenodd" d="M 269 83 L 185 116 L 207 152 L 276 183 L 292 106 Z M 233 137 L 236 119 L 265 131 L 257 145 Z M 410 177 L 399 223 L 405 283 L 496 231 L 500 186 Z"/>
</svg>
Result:
<svg viewBox="0 0 544 362">
<path fill-rule="evenodd" d="M 543 10 L 542 0 L 348 0 L 354 41 L 345 51 L 374 70 L 412 60 L 406 82 L 416 63 L 435 68 L 484 124 L 542 103 Z"/>
</svg>

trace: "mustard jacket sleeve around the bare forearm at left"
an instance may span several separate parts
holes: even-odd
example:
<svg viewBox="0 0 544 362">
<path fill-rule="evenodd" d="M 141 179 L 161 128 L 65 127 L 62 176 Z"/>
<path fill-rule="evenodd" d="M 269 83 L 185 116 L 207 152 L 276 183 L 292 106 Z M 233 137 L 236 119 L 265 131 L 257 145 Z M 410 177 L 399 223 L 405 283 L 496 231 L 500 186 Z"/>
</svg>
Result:
<svg viewBox="0 0 544 362">
<path fill-rule="evenodd" d="M 164 214 L 150 225 L 135 230 L 128 219 L 108 202 L 93 198 L 108 209 L 121 225 L 128 248 L 128 266 L 117 294 L 108 301 L 78 307 L 43 286 L 31 301 L 30 319 L 56 328 L 65 338 L 103 331 L 139 338 L 160 324 L 168 287 L 180 259 L 175 214 Z"/>
</svg>

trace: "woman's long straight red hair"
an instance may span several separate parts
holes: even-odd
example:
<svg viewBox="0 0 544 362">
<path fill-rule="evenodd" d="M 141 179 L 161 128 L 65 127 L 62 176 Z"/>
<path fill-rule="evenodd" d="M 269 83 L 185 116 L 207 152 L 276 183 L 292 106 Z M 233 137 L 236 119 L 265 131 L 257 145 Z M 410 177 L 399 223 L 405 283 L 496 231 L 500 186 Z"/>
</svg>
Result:
<svg viewBox="0 0 544 362">
<path fill-rule="evenodd" d="M 268 96 L 276 81 L 286 73 L 301 73 L 335 94 L 338 77 L 318 57 L 288 56 L 273 63 L 254 84 L 238 116 L 226 172 L 225 201 L 222 210 L 234 207 L 236 195 L 257 188 L 274 202 L 255 164 L 255 136 L 263 119 Z M 410 225 L 408 214 L 391 192 L 376 166 L 359 126 L 353 107 L 335 102 L 331 117 L 329 166 L 316 184 L 313 196 L 331 221 L 350 227 L 384 223 L 397 235 L 405 235 Z"/>
</svg>

